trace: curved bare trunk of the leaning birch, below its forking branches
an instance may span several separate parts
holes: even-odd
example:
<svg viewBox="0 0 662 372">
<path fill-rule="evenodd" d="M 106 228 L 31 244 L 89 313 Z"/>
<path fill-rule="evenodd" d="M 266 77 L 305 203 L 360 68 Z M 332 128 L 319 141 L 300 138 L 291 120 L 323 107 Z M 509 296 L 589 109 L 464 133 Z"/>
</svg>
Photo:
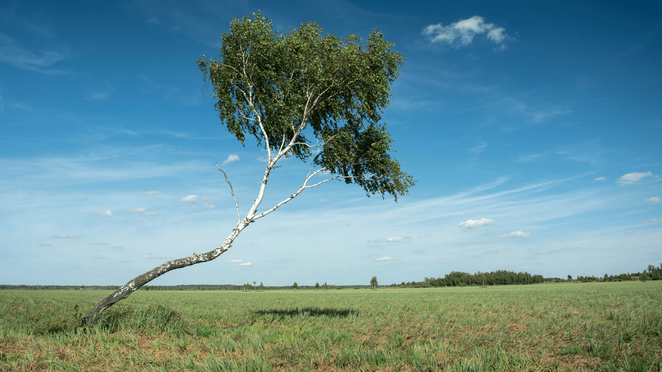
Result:
<svg viewBox="0 0 662 372">
<path fill-rule="evenodd" d="M 104 308 L 113 306 L 113 304 L 116 304 L 118 301 L 122 299 L 126 299 L 126 297 L 128 297 L 131 293 L 133 293 L 133 291 L 136 291 L 138 288 L 142 287 L 143 285 L 146 285 L 147 283 L 160 277 L 161 275 L 164 275 L 168 271 L 174 269 L 180 269 L 181 267 L 195 265 L 196 263 L 211 261 L 212 259 L 222 255 L 226 250 L 232 247 L 231 246 L 232 241 L 234 241 L 234 239 L 239 235 L 241 230 L 244 230 L 244 228 L 248 225 L 248 223 L 250 222 L 247 222 L 246 220 L 240 222 L 237 225 L 237 227 L 232 230 L 230 236 L 228 236 L 228 238 L 223 242 L 223 244 L 221 244 L 220 246 L 218 246 L 218 248 L 210 252 L 207 252 L 205 254 L 192 254 L 191 256 L 186 258 L 173 259 L 172 261 L 167 261 L 163 265 L 154 267 L 154 269 L 142 275 L 138 275 L 137 277 L 134 277 L 128 283 L 118 288 L 117 291 L 111 293 L 111 295 L 106 296 L 105 299 L 101 300 L 101 302 L 96 304 L 92 308 L 92 310 L 89 310 L 89 312 L 85 314 L 85 316 L 83 316 L 82 322 L 85 324 L 91 324 L 95 316 L 97 316 L 97 314 L 103 311 Z"/>
</svg>

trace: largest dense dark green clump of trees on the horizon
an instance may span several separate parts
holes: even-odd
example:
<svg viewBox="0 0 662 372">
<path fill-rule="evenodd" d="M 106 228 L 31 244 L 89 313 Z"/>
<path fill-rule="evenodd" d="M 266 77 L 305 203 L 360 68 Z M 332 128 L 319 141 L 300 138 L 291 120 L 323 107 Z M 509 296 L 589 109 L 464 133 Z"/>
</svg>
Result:
<svg viewBox="0 0 662 372">
<path fill-rule="evenodd" d="M 423 281 L 410 281 L 400 284 L 393 283 L 391 287 L 418 288 L 418 287 L 458 287 L 465 285 L 513 285 L 513 284 L 533 284 L 543 283 L 542 275 L 531 275 L 521 271 L 497 270 L 489 273 L 463 273 L 461 271 L 451 271 L 444 277 L 425 277 Z"/>
</svg>

